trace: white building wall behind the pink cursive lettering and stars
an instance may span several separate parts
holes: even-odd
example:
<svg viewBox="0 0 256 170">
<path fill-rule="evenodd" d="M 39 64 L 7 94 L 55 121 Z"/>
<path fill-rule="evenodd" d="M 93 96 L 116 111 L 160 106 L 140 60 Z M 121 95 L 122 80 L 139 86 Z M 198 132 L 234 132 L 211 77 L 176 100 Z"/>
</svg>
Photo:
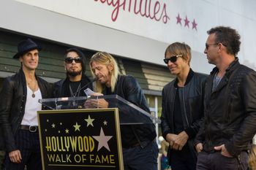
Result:
<svg viewBox="0 0 256 170">
<path fill-rule="evenodd" d="M 21 3 L 22 1 L 23 3 Z M 129 0 L 1 0 L 0 27 L 12 31 L 76 45 L 91 50 L 134 58 L 163 65 L 164 51 L 172 42 L 186 42 L 192 47 L 192 68 L 209 73 L 212 65 L 203 54 L 206 31 L 213 26 L 231 26 L 242 37 L 241 63 L 256 68 L 256 1 L 254 0 L 151 0 L 151 15 L 158 4 L 157 21 L 135 14 Z M 107 4 L 113 2 L 113 4 Z M 114 3 L 119 2 L 119 8 Z M 134 2 L 134 1 L 132 1 Z M 138 1 L 140 2 L 140 1 Z M 141 0 L 141 11 L 148 10 L 150 0 Z M 148 4 L 146 4 L 146 2 Z M 146 5 L 146 6 L 145 6 Z M 137 4 L 138 7 L 138 4 Z M 111 18 L 119 9 L 116 20 Z M 176 17 L 180 15 L 181 24 Z M 184 26 L 184 19 L 189 26 Z M 197 23 L 196 29 L 192 22 Z M 166 21 L 166 23 L 165 23 Z"/>
</svg>

